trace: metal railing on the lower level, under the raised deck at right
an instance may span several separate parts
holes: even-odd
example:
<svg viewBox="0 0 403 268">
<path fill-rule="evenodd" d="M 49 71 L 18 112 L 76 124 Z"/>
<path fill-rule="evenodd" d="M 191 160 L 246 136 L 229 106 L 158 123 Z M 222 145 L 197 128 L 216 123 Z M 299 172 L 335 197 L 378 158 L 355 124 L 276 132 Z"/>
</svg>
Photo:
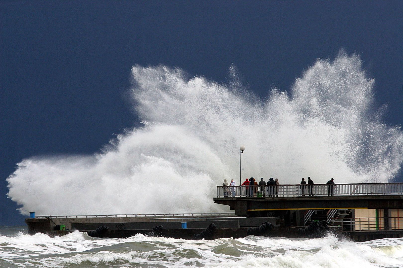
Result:
<svg viewBox="0 0 403 268">
<path fill-rule="evenodd" d="M 340 218 L 335 219 L 332 225 L 343 227 L 343 232 L 402 230 L 403 217 Z"/>
</svg>

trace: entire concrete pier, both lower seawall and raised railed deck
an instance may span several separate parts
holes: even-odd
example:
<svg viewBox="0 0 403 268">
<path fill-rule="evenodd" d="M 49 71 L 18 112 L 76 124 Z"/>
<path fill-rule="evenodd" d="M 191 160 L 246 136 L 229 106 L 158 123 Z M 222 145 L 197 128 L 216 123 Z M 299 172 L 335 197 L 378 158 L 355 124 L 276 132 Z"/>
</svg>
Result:
<svg viewBox="0 0 403 268">
<path fill-rule="evenodd" d="M 322 233 L 315 233 L 318 229 L 312 233 L 305 227 L 311 223 L 312 228 L 320 223 L 339 237 L 350 237 L 356 241 L 403 237 L 403 217 L 399 216 L 403 215 L 403 183 L 336 186 L 315 184 L 312 189 L 308 186 L 304 189 L 300 185 L 279 185 L 272 188 L 217 186 L 217 197 L 213 200 L 214 203 L 229 206 L 235 211 L 235 215 L 66 215 L 36 216 L 25 222 L 29 233 L 50 235 L 63 235 L 73 230 L 93 231 L 105 225 L 108 230 L 101 237 L 116 238 L 141 233 L 196 239 L 197 234 L 211 223 L 216 228 L 206 239 L 239 238 L 251 234 L 249 228 L 258 227 L 265 222 L 270 223 L 273 228 L 261 230 L 253 233 L 254 235 L 316 237 L 324 234 L 323 229 Z M 160 225 L 163 227 L 160 231 L 154 228 Z M 62 230 L 63 228 L 66 230 Z"/>
</svg>

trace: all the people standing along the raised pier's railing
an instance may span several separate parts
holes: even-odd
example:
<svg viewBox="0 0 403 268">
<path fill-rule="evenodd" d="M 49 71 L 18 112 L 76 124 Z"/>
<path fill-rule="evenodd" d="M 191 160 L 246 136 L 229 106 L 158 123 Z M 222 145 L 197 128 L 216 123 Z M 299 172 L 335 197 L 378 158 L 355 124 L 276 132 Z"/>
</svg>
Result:
<svg viewBox="0 0 403 268">
<path fill-rule="evenodd" d="M 331 178 L 326 184 L 328 186 L 328 196 L 333 195 L 334 193 L 334 179 Z M 241 184 L 241 186 L 245 186 L 245 188 L 241 187 L 240 192 L 236 193 L 235 190 L 235 180 L 231 180 L 230 184 L 228 184 L 227 180 L 224 179 L 222 183 L 223 186 L 232 186 L 232 187 L 224 187 L 224 196 L 225 195 L 245 195 L 245 196 L 278 196 L 280 192 L 280 186 L 278 183 L 278 178 L 275 180 L 270 178 L 268 182 L 265 182 L 263 178 L 260 178 L 260 182 L 256 182 L 256 179 L 251 177 L 245 179 L 245 181 Z M 301 196 L 305 196 L 306 188 L 308 188 L 308 195 L 314 196 L 314 181 L 311 180 L 311 177 L 308 177 L 308 182 L 305 182 L 305 178 L 302 178 L 299 184 L 299 188 L 301 190 Z"/>
</svg>

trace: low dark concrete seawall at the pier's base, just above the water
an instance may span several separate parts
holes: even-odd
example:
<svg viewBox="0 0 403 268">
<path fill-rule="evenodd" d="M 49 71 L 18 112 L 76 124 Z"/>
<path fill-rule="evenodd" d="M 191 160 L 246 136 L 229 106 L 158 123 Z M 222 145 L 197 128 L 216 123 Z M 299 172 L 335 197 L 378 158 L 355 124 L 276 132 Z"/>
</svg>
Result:
<svg viewBox="0 0 403 268">
<path fill-rule="evenodd" d="M 147 221 L 146 221 L 147 220 Z M 98 218 L 49 218 L 41 217 L 26 219 L 30 234 L 46 233 L 49 235 L 66 235 L 71 231 L 92 231 L 97 227 L 106 225 L 108 230 L 100 237 L 127 238 L 136 234 L 149 236 L 164 236 L 178 239 L 197 239 L 195 235 L 200 234 L 214 223 L 216 229 L 203 237 L 205 239 L 218 238 L 241 238 L 248 235 L 250 227 L 258 227 L 262 222 L 269 222 L 272 229 L 259 232 L 256 235 L 266 237 L 287 237 L 287 238 L 313 238 L 324 236 L 327 233 L 337 235 L 339 238 L 353 239 L 355 241 L 369 241 L 382 238 L 403 237 L 403 230 L 374 230 L 374 231 L 348 231 L 343 232 L 341 226 L 330 226 L 327 232 L 312 233 L 309 235 L 300 234 L 301 227 L 280 227 L 275 225 L 275 218 L 259 217 L 98 217 Z M 187 222 L 187 228 L 183 229 L 181 223 Z M 65 225 L 67 230 L 57 229 L 60 225 Z M 162 225 L 161 231 L 153 231 L 154 226 Z M 59 227 L 60 228 L 60 227 Z"/>
</svg>

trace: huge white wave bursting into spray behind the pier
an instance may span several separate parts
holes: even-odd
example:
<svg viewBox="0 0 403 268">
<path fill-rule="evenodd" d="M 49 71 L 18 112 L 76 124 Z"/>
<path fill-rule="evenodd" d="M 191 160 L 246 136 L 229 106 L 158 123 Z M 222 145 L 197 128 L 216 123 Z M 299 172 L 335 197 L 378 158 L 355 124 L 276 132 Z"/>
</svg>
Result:
<svg viewBox="0 0 403 268">
<path fill-rule="evenodd" d="M 21 213 L 217 212 L 216 185 L 243 178 L 315 183 L 387 182 L 403 162 L 400 127 L 382 123 L 374 79 L 357 55 L 318 59 L 291 94 L 262 100 L 231 82 L 188 78 L 179 69 L 134 66 L 133 107 L 143 127 L 117 135 L 95 155 L 38 156 L 8 178 Z M 99 205 L 102 204 L 102 205 Z"/>
</svg>

